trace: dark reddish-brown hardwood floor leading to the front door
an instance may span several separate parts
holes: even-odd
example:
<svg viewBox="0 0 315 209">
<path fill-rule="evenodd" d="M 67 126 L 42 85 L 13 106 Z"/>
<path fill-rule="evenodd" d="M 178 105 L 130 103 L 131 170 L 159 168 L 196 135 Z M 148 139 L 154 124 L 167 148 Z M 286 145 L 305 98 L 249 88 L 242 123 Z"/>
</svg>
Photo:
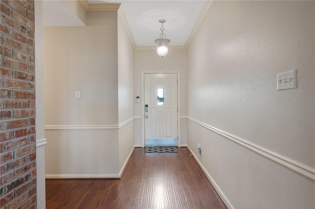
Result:
<svg viewBox="0 0 315 209">
<path fill-rule="evenodd" d="M 47 209 L 225 209 L 187 148 L 136 148 L 121 180 L 46 180 Z"/>
</svg>

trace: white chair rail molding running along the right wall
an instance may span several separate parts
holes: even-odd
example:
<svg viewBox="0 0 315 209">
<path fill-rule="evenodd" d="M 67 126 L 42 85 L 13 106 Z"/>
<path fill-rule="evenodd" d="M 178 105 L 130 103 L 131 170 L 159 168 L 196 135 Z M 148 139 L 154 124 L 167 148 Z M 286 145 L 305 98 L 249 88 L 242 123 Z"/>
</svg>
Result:
<svg viewBox="0 0 315 209">
<path fill-rule="evenodd" d="M 308 178 L 309 180 L 312 180 L 313 182 L 315 182 L 315 170 L 309 167 L 306 167 L 305 165 L 293 161 L 291 159 L 288 159 L 284 156 L 281 156 L 275 152 L 272 152 L 270 150 L 267 150 L 259 145 L 253 144 L 252 142 L 249 142 L 245 139 L 242 139 L 238 136 L 235 136 L 231 133 L 225 132 L 225 131 L 221 131 L 220 129 L 217 129 L 215 127 L 212 127 L 208 124 L 205 124 L 203 122 L 200 122 L 198 120 L 195 120 L 191 117 L 187 117 L 187 119 L 189 119 L 190 121 L 206 128 L 209 129 L 211 131 L 214 131 L 222 136 L 224 136 L 227 139 L 230 139 L 232 141 L 234 141 L 235 143 L 238 143 L 239 145 L 242 145 L 243 147 L 251 150 L 252 152 L 255 152 L 263 157 L 266 157 L 267 159 L 270 159 L 276 163 L 278 163 L 279 165 L 284 166 L 287 169 L 290 169 L 291 171 L 300 174 L 306 178 Z"/>
</svg>

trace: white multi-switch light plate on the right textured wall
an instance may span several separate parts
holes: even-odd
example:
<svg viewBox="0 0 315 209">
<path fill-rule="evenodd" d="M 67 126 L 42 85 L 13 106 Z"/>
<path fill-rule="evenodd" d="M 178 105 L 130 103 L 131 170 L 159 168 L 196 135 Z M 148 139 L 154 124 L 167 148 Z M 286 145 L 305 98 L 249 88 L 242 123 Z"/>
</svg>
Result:
<svg viewBox="0 0 315 209">
<path fill-rule="evenodd" d="M 277 90 L 296 88 L 296 70 L 277 74 Z"/>
</svg>

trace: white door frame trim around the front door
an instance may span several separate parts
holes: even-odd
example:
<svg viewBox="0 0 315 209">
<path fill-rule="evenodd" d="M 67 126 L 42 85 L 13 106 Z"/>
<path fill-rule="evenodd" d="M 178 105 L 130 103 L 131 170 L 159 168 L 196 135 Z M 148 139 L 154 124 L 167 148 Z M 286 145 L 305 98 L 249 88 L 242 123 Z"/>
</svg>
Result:
<svg viewBox="0 0 315 209">
<path fill-rule="evenodd" d="M 141 71 L 141 127 L 142 127 L 142 147 L 145 145 L 145 124 L 144 124 L 144 74 L 177 74 L 177 146 L 181 147 L 181 85 L 179 71 Z"/>
</svg>

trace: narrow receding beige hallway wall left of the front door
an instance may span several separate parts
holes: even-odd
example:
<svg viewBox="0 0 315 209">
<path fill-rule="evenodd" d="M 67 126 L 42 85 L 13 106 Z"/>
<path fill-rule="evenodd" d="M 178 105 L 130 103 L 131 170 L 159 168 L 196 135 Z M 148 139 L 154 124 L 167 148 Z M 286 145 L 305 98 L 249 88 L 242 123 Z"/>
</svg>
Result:
<svg viewBox="0 0 315 209">
<path fill-rule="evenodd" d="M 120 171 L 134 147 L 133 74 L 133 47 L 118 15 L 118 121 L 121 125 L 126 124 L 118 133 Z"/>
</svg>

